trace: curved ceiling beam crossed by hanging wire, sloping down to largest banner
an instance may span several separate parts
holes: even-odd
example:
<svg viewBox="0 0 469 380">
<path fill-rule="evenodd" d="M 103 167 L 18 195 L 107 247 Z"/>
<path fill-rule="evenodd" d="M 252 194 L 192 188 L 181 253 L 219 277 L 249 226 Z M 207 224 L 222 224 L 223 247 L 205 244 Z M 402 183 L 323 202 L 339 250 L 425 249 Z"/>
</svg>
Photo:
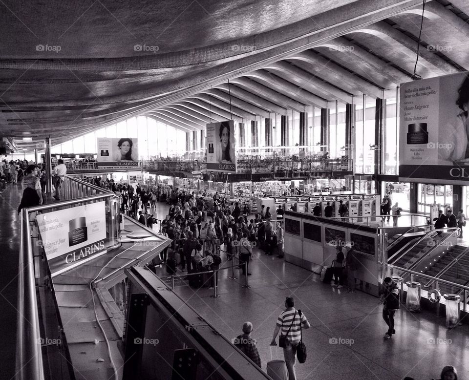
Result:
<svg viewBox="0 0 469 380">
<path fill-rule="evenodd" d="M 390 61 L 396 63 L 408 72 L 413 72 L 413 66 L 415 65 L 416 59 L 416 42 L 398 29 L 393 28 L 387 22 L 380 21 L 376 24 L 369 25 L 365 29 L 355 30 L 353 33 L 371 34 L 380 40 L 387 42 L 390 46 L 395 47 L 392 50 L 386 49 L 387 55 L 381 55 L 386 56 Z M 379 46 L 380 42 L 378 42 L 377 45 Z M 381 46 L 384 49 L 386 48 L 383 45 Z M 396 46 L 399 46 L 399 48 Z M 379 51 L 377 51 L 377 53 L 379 53 Z M 403 55 L 408 57 L 408 60 L 411 62 L 411 67 L 409 67 L 408 64 L 405 64 L 402 57 Z M 456 67 L 422 46 L 419 50 L 419 56 L 417 72 L 420 71 L 419 66 L 424 66 L 424 68 L 436 72 L 436 75 L 451 74 L 459 71 Z"/>
</svg>

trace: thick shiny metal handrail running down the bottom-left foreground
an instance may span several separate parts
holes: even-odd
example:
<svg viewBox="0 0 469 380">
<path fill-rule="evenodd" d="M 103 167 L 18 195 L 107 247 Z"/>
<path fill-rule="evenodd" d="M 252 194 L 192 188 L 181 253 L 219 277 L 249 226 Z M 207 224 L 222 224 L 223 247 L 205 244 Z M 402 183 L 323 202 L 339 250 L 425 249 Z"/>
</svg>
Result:
<svg viewBox="0 0 469 380">
<path fill-rule="evenodd" d="M 40 344 L 38 300 L 34 274 L 29 213 L 21 211 L 20 273 L 18 275 L 18 319 L 16 375 L 18 380 L 43 380 L 43 355 Z"/>
</svg>

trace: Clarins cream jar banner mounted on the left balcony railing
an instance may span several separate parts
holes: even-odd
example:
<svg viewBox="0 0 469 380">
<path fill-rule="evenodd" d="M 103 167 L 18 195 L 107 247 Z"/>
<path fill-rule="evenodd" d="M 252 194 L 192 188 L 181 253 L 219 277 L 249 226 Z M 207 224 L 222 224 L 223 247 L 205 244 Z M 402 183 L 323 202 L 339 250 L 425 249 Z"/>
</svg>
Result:
<svg viewBox="0 0 469 380">
<path fill-rule="evenodd" d="M 52 276 L 103 253 L 107 247 L 106 202 L 37 216 Z"/>
</svg>

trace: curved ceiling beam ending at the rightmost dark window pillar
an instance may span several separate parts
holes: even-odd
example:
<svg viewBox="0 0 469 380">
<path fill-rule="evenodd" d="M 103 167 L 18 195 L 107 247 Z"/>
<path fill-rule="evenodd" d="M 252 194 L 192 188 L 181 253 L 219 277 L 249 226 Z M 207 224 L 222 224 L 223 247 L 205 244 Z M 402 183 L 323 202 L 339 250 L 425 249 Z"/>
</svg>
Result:
<svg viewBox="0 0 469 380">
<path fill-rule="evenodd" d="M 333 61 L 318 53 L 313 53 L 311 50 L 303 51 L 288 60 L 298 60 L 307 63 L 307 65 L 300 65 L 299 67 L 313 74 L 317 73 L 329 83 L 346 86 L 347 92 L 352 92 L 354 95 L 361 92 L 374 98 L 383 97 L 382 88 L 357 77 Z M 355 92 L 353 92 L 354 89 Z"/>
</svg>

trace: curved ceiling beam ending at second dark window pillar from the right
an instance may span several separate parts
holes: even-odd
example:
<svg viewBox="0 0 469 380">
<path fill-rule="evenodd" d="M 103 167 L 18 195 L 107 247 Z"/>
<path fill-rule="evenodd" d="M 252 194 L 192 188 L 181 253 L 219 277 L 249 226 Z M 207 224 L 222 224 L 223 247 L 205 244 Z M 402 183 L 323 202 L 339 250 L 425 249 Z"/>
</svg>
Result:
<svg viewBox="0 0 469 380">
<path fill-rule="evenodd" d="M 334 87 L 324 81 L 321 81 L 318 77 L 312 75 L 309 72 L 299 69 L 297 66 L 280 61 L 266 68 L 275 70 L 287 75 L 290 82 L 297 83 L 309 92 L 324 94 L 327 100 L 340 100 L 344 103 L 352 102 L 352 95 L 339 88 Z"/>
</svg>

